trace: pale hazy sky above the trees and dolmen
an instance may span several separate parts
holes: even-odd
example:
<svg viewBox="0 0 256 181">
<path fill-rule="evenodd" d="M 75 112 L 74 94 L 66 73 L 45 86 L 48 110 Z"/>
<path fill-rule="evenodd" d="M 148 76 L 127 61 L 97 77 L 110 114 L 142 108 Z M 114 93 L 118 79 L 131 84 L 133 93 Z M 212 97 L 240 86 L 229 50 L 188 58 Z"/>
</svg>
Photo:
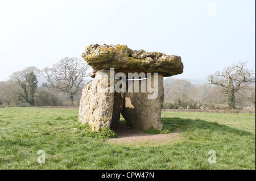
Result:
<svg viewBox="0 0 256 181">
<path fill-rule="evenodd" d="M 181 56 L 176 78 L 201 79 L 238 61 L 255 70 L 255 1 L 0 0 L 0 81 L 96 43 Z"/>
</svg>

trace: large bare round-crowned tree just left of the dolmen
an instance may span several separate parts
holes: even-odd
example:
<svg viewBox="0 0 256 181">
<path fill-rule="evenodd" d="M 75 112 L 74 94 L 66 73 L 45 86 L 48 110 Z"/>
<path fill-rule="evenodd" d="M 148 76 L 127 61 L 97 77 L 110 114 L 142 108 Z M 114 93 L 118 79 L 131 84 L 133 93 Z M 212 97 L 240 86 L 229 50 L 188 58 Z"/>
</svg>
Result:
<svg viewBox="0 0 256 181">
<path fill-rule="evenodd" d="M 80 58 L 65 57 L 54 64 L 52 68 L 44 69 L 44 76 L 50 86 L 57 92 L 67 92 L 71 106 L 74 104 L 74 95 L 80 89 L 85 77 L 88 65 Z"/>
</svg>

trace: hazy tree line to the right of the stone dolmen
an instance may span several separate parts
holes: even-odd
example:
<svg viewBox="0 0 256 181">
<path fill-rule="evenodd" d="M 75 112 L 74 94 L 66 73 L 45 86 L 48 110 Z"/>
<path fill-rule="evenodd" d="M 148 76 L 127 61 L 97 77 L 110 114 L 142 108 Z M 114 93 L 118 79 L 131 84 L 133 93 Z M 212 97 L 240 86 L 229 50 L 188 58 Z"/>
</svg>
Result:
<svg viewBox="0 0 256 181">
<path fill-rule="evenodd" d="M 193 85 L 185 79 L 164 80 L 164 108 L 170 109 L 255 109 L 253 70 L 239 62 L 205 77 L 208 83 Z"/>
</svg>

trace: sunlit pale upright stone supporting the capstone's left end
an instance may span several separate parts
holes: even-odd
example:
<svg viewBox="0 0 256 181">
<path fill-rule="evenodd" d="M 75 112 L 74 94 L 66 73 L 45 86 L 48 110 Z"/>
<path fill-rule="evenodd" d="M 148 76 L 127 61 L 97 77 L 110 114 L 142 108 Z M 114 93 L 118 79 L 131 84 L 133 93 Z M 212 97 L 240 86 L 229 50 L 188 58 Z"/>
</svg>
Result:
<svg viewBox="0 0 256 181">
<path fill-rule="evenodd" d="M 79 108 L 79 120 L 88 122 L 92 131 L 102 128 L 110 129 L 114 92 L 108 92 L 109 70 L 98 70 L 93 82 L 89 82 L 82 90 Z"/>
</svg>

